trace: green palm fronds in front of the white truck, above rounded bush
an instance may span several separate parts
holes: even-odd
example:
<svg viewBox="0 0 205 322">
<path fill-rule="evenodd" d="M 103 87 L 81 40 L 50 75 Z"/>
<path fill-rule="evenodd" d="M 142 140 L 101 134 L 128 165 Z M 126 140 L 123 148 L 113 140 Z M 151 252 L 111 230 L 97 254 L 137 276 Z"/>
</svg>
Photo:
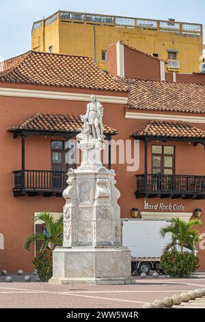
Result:
<svg viewBox="0 0 205 322">
<path fill-rule="evenodd" d="M 203 223 L 199 219 L 193 219 L 185 221 L 178 217 L 172 218 L 170 224 L 162 227 L 160 234 L 165 238 L 165 234 L 172 234 L 172 241 L 168 243 L 165 250 L 176 249 L 176 245 L 179 245 L 180 252 L 182 253 L 183 247 L 188 247 L 191 251 L 195 251 L 195 245 L 200 241 L 198 230 L 191 229 L 194 225 L 202 226 Z"/>
</svg>

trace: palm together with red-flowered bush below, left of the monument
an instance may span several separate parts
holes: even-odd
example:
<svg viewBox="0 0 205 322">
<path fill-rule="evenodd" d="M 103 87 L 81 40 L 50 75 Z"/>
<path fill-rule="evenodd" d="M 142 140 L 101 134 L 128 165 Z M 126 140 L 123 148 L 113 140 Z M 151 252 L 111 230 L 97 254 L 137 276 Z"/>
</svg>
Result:
<svg viewBox="0 0 205 322">
<path fill-rule="evenodd" d="M 38 272 L 40 281 L 46 282 L 53 275 L 53 249 L 56 245 L 63 244 L 63 216 L 55 220 L 50 212 L 40 212 L 34 221 L 44 222 L 44 232 L 29 234 L 25 241 L 25 250 L 29 251 L 32 243 L 40 240 L 40 252 L 33 258 L 34 269 Z"/>
</svg>

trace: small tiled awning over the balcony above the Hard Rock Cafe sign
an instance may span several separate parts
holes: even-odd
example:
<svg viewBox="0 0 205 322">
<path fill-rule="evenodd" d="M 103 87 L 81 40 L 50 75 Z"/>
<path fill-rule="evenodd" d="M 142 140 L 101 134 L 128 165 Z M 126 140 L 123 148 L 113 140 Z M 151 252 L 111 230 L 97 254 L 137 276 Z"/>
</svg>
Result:
<svg viewBox="0 0 205 322">
<path fill-rule="evenodd" d="M 142 136 L 163 136 L 169 138 L 205 138 L 205 131 L 180 121 L 150 121 L 132 134 Z"/>
</svg>

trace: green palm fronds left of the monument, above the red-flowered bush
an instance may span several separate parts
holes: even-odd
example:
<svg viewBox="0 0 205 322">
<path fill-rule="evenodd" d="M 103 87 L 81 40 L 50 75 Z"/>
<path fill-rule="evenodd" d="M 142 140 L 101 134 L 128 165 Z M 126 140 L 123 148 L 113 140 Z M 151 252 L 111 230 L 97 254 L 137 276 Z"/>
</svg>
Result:
<svg viewBox="0 0 205 322">
<path fill-rule="evenodd" d="M 60 216 L 58 220 L 55 220 L 53 214 L 50 212 L 40 212 L 38 216 L 35 217 L 34 221 L 44 222 L 44 232 L 36 232 L 27 236 L 24 248 L 26 251 L 30 250 L 30 246 L 36 240 L 42 241 L 42 247 L 40 251 L 44 251 L 46 248 L 54 249 L 55 245 L 63 244 L 63 216 Z"/>
</svg>

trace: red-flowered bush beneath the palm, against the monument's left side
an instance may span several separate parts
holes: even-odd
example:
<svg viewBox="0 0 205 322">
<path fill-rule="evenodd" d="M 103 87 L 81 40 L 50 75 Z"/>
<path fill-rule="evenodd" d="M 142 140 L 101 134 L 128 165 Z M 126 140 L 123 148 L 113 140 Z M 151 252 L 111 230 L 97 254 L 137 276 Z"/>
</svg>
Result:
<svg viewBox="0 0 205 322">
<path fill-rule="evenodd" d="M 34 269 L 41 282 L 47 282 L 53 275 L 53 249 L 44 249 L 33 258 Z"/>
</svg>

